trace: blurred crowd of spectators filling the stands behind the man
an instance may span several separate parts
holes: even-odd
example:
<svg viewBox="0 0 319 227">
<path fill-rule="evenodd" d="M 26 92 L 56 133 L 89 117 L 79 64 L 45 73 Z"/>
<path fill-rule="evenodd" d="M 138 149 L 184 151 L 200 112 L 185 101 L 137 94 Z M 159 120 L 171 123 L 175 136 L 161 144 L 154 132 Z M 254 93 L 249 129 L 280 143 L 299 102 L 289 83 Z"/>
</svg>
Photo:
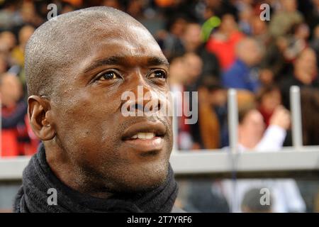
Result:
<svg viewBox="0 0 319 227">
<path fill-rule="evenodd" d="M 112 6 L 150 30 L 170 62 L 171 90 L 198 92 L 197 123 L 187 125 L 186 116 L 177 121 L 179 150 L 228 147 L 229 88 L 237 89 L 240 152 L 291 145 L 289 89 L 293 85 L 301 88 L 303 145 L 319 145 L 319 0 L 0 0 L 0 157 L 32 155 L 38 146 L 26 116 L 24 48 L 35 29 L 47 21 L 52 9 L 47 6 L 52 3 L 58 15 Z M 261 4 L 269 6 L 266 20 L 260 16 Z M 223 206 L 235 200 L 228 198 L 230 182 L 205 185 L 196 183 L 189 192 L 207 189 L 213 199 L 207 193 L 191 194 L 206 197 L 189 197 L 193 201 L 189 210 L 213 211 L 196 202 L 214 201 L 220 205 L 216 211 L 230 211 L 230 206 Z M 220 185 L 223 199 L 211 193 Z M 287 201 L 272 208 L 254 204 L 259 190 L 247 185 L 252 182 L 237 182 L 241 201 L 233 204 L 233 211 L 305 211 L 296 182 L 290 179 L 256 184 L 257 188 L 268 185 L 281 199 L 290 192 Z"/>
</svg>

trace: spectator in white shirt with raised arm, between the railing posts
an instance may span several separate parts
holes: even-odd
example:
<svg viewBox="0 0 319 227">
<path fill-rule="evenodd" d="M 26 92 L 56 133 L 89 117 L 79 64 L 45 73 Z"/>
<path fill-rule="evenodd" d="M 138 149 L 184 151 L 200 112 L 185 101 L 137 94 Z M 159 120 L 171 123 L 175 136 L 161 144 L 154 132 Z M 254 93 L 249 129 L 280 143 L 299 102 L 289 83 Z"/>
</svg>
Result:
<svg viewBox="0 0 319 227">
<path fill-rule="evenodd" d="M 247 104 L 239 111 L 239 122 L 238 152 L 242 153 L 247 150 L 269 152 L 281 149 L 286 130 L 290 126 L 290 116 L 282 106 L 277 107 L 270 119 L 270 126 L 265 131 L 262 114 L 253 105 Z M 293 179 L 237 179 L 235 181 L 225 179 L 221 185 L 233 212 L 243 211 L 241 204 L 246 203 L 243 202 L 245 193 L 256 187 L 269 190 L 270 196 L 273 196 L 274 199 L 272 204 L 274 212 L 306 211 L 306 205 Z M 258 199 L 254 203 L 259 202 L 261 196 L 254 197 Z"/>
</svg>

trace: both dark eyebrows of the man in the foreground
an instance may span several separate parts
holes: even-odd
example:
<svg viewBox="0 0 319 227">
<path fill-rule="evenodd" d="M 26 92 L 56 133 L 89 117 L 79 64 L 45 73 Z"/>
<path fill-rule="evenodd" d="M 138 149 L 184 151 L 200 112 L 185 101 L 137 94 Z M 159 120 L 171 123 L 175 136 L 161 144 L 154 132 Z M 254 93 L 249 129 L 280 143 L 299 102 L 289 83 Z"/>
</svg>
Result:
<svg viewBox="0 0 319 227">
<path fill-rule="evenodd" d="M 101 67 L 103 65 L 128 65 L 128 60 L 125 56 L 106 57 L 104 59 L 94 61 L 89 67 L 84 70 L 84 72 L 89 72 L 91 70 L 94 70 L 96 67 Z M 165 65 L 168 67 L 169 62 L 165 57 L 149 57 L 145 66 L 152 65 Z"/>
</svg>

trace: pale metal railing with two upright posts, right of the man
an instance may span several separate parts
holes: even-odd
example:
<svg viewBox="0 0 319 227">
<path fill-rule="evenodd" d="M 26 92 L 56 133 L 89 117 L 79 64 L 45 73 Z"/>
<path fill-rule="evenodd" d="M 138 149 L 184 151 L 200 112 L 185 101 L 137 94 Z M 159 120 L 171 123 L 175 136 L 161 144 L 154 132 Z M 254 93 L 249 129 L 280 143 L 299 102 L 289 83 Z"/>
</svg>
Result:
<svg viewBox="0 0 319 227">
<path fill-rule="evenodd" d="M 319 177 L 319 145 L 303 146 L 300 89 L 290 89 L 292 147 L 267 153 L 250 150 L 237 153 L 238 107 L 237 92 L 228 90 L 229 151 L 225 149 L 184 151 L 175 150 L 171 163 L 177 175 L 220 175 L 230 177 Z M 319 121 L 319 119 L 318 119 Z M 318 138 L 319 140 L 319 138 Z M 174 141 L 177 143 L 177 141 Z M 174 145 L 177 148 L 177 144 Z"/>
</svg>

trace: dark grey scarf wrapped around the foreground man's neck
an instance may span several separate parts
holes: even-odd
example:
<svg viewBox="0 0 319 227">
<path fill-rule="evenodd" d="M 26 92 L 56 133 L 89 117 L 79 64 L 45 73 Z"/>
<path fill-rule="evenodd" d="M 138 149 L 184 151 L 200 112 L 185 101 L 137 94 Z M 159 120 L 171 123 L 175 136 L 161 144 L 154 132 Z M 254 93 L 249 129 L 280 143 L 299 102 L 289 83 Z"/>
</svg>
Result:
<svg viewBox="0 0 319 227">
<path fill-rule="evenodd" d="M 167 180 L 151 192 L 120 194 L 100 199 L 81 194 L 63 184 L 47 164 L 40 145 L 23 171 L 22 186 L 16 195 L 14 212 L 170 212 L 177 197 L 177 183 L 169 165 Z M 57 190 L 57 205 L 48 205 L 47 190 Z"/>
</svg>

